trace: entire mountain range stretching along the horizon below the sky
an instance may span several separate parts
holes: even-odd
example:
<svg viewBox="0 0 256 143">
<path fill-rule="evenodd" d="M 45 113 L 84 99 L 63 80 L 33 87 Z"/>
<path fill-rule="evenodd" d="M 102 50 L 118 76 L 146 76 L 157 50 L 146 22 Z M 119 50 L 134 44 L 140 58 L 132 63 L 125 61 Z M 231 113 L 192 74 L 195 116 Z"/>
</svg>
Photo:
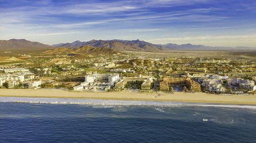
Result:
<svg viewBox="0 0 256 143">
<path fill-rule="evenodd" d="M 256 50 L 252 47 L 211 47 L 192 44 L 152 44 L 141 40 L 91 40 L 88 42 L 75 41 L 46 45 L 25 39 L 0 40 L 0 49 L 49 49 L 56 47 L 80 48 L 83 46 L 107 48 L 116 51 L 168 51 L 168 50 Z"/>
</svg>

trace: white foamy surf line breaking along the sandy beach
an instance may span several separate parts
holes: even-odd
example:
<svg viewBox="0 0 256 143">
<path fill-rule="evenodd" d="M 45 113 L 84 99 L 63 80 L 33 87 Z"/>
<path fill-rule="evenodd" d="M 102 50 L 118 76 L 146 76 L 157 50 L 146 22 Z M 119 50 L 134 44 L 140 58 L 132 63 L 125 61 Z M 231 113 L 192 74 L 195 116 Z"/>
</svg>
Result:
<svg viewBox="0 0 256 143">
<path fill-rule="evenodd" d="M 101 100 L 101 99 L 75 99 L 75 98 L 30 98 L 30 97 L 0 97 L 0 102 L 19 103 L 47 103 L 47 104 L 82 104 L 100 105 L 95 107 L 111 108 L 113 105 L 140 105 L 140 106 L 204 106 L 204 107 L 224 107 L 224 108 L 246 108 L 256 110 L 253 105 L 223 105 L 223 104 L 202 104 L 175 101 L 130 101 L 130 100 Z M 160 108 L 156 109 L 159 111 Z"/>
</svg>

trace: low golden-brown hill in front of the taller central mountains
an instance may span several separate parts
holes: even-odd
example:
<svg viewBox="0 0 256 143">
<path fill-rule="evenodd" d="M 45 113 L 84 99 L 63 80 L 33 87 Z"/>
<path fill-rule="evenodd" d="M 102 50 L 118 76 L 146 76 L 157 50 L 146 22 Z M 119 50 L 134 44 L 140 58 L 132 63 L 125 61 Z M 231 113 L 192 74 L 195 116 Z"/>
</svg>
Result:
<svg viewBox="0 0 256 143">
<path fill-rule="evenodd" d="M 51 50 L 47 50 L 43 52 L 48 55 L 61 55 L 61 54 L 79 54 L 79 55 L 87 55 L 87 54 L 120 54 L 112 49 L 106 48 L 96 48 L 90 46 L 82 46 L 80 48 L 54 48 Z"/>
</svg>

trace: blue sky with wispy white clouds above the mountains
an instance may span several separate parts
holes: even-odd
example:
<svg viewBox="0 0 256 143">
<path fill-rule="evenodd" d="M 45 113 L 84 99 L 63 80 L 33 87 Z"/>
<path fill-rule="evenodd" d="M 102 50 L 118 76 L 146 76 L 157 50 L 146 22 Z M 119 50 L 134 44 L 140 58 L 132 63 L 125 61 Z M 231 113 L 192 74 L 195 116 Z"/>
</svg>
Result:
<svg viewBox="0 0 256 143">
<path fill-rule="evenodd" d="M 255 0 L 0 0 L 0 39 L 256 47 Z"/>
</svg>

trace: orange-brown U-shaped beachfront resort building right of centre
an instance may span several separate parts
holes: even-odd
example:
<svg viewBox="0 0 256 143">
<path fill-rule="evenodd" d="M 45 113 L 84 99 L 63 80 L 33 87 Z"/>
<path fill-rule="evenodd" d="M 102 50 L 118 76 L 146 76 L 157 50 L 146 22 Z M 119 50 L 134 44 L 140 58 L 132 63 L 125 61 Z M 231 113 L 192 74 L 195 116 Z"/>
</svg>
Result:
<svg viewBox="0 0 256 143">
<path fill-rule="evenodd" d="M 191 80 L 189 77 L 163 77 L 163 81 L 160 82 L 160 91 L 170 91 L 171 87 L 169 86 L 169 83 L 184 85 L 188 91 L 201 91 L 201 85 L 197 81 Z"/>
</svg>

